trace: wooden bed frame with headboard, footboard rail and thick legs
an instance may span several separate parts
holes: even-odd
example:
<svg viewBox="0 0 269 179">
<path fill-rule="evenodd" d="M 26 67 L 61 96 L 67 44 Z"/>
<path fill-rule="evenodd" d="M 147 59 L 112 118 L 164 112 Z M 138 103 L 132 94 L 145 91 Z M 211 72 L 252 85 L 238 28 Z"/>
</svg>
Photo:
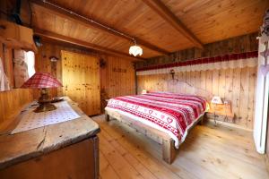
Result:
<svg viewBox="0 0 269 179">
<path fill-rule="evenodd" d="M 171 80 L 168 81 L 168 85 L 169 89 L 173 89 L 171 90 L 172 92 L 184 92 L 186 94 L 200 95 L 205 97 L 207 100 L 212 97 L 211 93 L 208 93 L 205 90 L 196 89 L 195 87 L 187 84 L 186 82 Z M 111 119 L 117 119 L 117 121 L 123 124 L 127 124 L 131 128 L 134 128 L 137 132 L 141 132 L 145 136 L 151 138 L 153 141 L 157 141 L 158 143 L 160 143 L 162 145 L 162 158 L 167 163 L 171 164 L 176 157 L 175 143 L 167 133 L 161 132 L 157 129 L 152 128 L 149 125 L 136 121 L 131 117 L 121 115 L 116 111 L 108 109 L 105 110 L 105 118 L 107 121 L 110 121 Z M 195 122 L 195 124 L 203 124 L 203 119 L 204 115 L 200 116 L 200 118 Z M 195 124 L 193 125 L 193 127 L 195 126 Z"/>
</svg>

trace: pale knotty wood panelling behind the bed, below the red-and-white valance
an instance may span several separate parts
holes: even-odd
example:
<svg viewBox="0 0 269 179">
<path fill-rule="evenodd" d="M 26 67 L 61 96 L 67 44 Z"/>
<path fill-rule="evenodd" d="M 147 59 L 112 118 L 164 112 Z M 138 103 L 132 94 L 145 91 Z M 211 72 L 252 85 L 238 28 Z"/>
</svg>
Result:
<svg viewBox="0 0 269 179">
<path fill-rule="evenodd" d="M 138 93 L 141 93 L 143 89 L 170 91 L 172 89 L 165 88 L 166 81 L 169 79 L 171 79 L 169 74 L 139 75 L 137 76 Z M 192 84 L 195 88 L 211 91 L 213 95 L 229 100 L 235 113 L 234 121 L 229 121 L 229 123 L 238 124 L 248 129 L 253 128 L 256 89 L 255 67 L 177 72 L 175 79 Z"/>
</svg>

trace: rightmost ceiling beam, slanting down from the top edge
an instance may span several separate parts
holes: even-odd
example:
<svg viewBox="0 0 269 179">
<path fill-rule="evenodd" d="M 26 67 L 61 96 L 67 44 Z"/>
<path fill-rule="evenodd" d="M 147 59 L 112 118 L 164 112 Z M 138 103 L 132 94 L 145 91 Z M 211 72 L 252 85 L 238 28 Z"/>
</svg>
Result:
<svg viewBox="0 0 269 179">
<path fill-rule="evenodd" d="M 183 36 L 189 39 L 195 47 L 203 48 L 203 43 L 195 37 L 195 35 L 187 29 L 187 27 L 172 13 L 169 8 L 161 2 L 161 0 L 143 0 L 155 13 L 158 13 L 162 19 L 169 22 Z"/>
</svg>

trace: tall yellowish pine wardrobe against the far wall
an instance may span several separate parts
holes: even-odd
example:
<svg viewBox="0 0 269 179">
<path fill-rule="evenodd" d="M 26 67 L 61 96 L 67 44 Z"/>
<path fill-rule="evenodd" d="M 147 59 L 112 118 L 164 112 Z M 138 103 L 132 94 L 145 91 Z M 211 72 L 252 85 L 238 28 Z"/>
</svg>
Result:
<svg viewBox="0 0 269 179">
<path fill-rule="evenodd" d="M 100 114 L 99 59 L 62 51 L 64 94 L 79 104 L 86 115 Z"/>
</svg>

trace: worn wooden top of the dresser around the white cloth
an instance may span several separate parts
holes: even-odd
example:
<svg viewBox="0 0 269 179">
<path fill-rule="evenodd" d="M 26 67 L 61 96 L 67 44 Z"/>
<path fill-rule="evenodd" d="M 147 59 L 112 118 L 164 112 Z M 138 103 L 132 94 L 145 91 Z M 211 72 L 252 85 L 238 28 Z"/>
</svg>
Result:
<svg viewBox="0 0 269 179">
<path fill-rule="evenodd" d="M 64 148 L 100 132 L 99 125 L 84 115 L 76 103 L 69 98 L 65 100 L 81 115 L 80 118 L 13 135 L 0 135 L 0 169 Z M 22 115 L 23 112 L 18 118 Z"/>
</svg>

